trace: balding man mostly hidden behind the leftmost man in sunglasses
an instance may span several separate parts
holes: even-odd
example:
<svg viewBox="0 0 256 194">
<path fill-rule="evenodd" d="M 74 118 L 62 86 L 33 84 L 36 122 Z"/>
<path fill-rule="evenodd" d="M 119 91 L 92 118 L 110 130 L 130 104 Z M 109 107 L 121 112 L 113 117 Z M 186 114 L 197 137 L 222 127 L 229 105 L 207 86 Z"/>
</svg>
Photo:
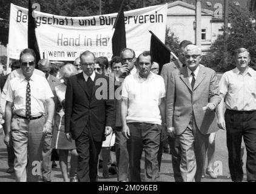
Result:
<svg viewBox="0 0 256 194">
<path fill-rule="evenodd" d="M 38 69 L 44 72 L 45 78 L 47 79 L 52 93 L 54 95 L 53 101 L 55 103 L 55 110 L 58 107 L 58 99 L 55 91 L 55 86 L 61 84 L 59 79 L 55 76 L 50 75 L 50 61 L 48 59 L 41 59 L 38 61 Z M 53 119 L 54 121 L 54 119 Z M 44 149 L 42 150 L 42 181 L 50 182 L 52 173 L 52 132 L 48 132 L 44 138 Z"/>
</svg>

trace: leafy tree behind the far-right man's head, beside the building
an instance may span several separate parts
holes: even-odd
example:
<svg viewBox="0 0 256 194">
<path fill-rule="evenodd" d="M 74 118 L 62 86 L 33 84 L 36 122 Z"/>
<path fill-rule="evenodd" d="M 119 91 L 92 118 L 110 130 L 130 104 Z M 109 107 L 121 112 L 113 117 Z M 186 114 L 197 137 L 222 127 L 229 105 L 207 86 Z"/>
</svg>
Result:
<svg viewBox="0 0 256 194">
<path fill-rule="evenodd" d="M 240 7 L 231 5 L 229 14 L 229 32 L 227 41 L 224 41 L 223 35 L 219 35 L 212 44 L 210 53 L 203 56 L 201 63 L 214 69 L 216 72 L 226 72 L 234 69 L 234 51 L 244 47 L 251 53 L 251 65 L 256 64 L 256 32 L 254 16 Z M 227 45 L 227 65 L 224 65 L 224 45 Z"/>
</svg>

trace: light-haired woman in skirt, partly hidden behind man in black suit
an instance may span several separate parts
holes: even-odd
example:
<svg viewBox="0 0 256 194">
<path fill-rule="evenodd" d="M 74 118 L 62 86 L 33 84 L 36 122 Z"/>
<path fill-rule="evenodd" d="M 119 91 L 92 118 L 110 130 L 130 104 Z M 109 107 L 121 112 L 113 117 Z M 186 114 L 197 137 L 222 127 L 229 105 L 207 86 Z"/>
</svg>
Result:
<svg viewBox="0 0 256 194">
<path fill-rule="evenodd" d="M 55 116 L 55 127 L 53 128 L 53 137 L 52 137 L 52 148 L 59 151 L 59 166 L 61 167 L 62 176 L 65 182 L 69 181 L 69 176 L 67 175 L 68 171 L 68 162 L 67 158 L 69 156 L 69 150 L 71 152 L 70 159 L 70 182 L 77 182 L 75 172 L 78 164 L 78 154 L 76 152 L 75 141 L 71 142 L 66 138 L 64 131 L 64 109 L 65 109 L 65 93 L 66 93 L 66 84 L 67 78 L 70 76 L 76 75 L 78 71 L 75 66 L 72 64 L 66 64 L 60 70 L 60 75 L 64 82 L 55 87 L 56 95 L 59 101 L 59 107 Z"/>
</svg>

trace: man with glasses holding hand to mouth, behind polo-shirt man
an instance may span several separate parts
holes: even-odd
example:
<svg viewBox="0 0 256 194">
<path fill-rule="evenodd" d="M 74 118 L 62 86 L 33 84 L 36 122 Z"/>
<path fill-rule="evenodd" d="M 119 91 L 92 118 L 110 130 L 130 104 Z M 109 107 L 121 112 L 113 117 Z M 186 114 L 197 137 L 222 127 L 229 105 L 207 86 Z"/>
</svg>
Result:
<svg viewBox="0 0 256 194">
<path fill-rule="evenodd" d="M 125 48 L 120 53 L 122 66 L 116 72 L 116 82 L 122 87 L 124 78 L 127 75 L 134 75 L 137 72 L 135 67 L 135 52 L 132 49 Z M 120 91 L 121 92 L 121 91 Z M 128 166 L 129 155 L 127 151 L 126 138 L 122 133 L 122 121 L 121 121 L 121 95 L 116 99 L 116 124 L 115 124 L 115 152 L 116 152 L 116 165 L 118 167 L 117 179 L 120 182 L 127 181 L 128 178 Z"/>
</svg>

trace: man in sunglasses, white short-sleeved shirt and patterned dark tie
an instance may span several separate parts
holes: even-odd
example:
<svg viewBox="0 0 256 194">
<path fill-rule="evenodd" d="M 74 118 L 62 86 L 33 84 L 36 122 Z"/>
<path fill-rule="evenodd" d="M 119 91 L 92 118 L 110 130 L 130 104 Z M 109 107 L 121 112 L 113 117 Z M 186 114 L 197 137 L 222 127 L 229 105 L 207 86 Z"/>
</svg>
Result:
<svg viewBox="0 0 256 194">
<path fill-rule="evenodd" d="M 35 168 L 41 169 L 44 135 L 52 129 L 55 104 L 45 77 L 34 73 L 35 52 L 25 49 L 19 60 L 21 73 L 8 83 L 4 142 L 11 143 L 11 133 L 16 181 L 35 182 L 41 174 Z"/>
</svg>

